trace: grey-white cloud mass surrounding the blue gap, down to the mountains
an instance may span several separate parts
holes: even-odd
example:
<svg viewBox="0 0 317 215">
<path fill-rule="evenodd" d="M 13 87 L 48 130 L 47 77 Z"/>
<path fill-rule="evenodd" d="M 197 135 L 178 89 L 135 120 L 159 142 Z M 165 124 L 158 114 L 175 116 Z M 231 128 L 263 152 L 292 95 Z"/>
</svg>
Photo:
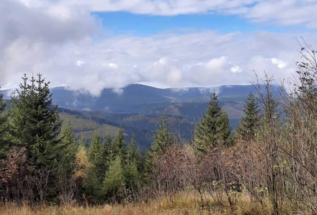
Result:
<svg viewBox="0 0 317 215">
<path fill-rule="evenodd" d="M 286 63 L 299 56 L 294 38 L 305 36 L 309 42 L 316 38 L 316 34 L 305 32 L 223 34 L 212 30 L 147 37 L 121 35 L 98 40 L 91 37 L 99 30 L 98 21 L 90 13 L 97 8 L 176 15 L 206 9 L 229 13 L 225 10 L 253 3 L 222 0 L 199 1 L 194 5 L 193 2 L 2 0 L 0 82 L 4 88 L 14 88 L 23 73 L 30 76 L 41 72 L 51 86 L 69 86 L 98 96 L 104 88 L 120 94 L 120 88 L 129 83 L 177 88 L 248 84 L 254 80 L 252 70 L 259 73 L 266 70 L 277 80 L 294 71 L 295 66 Z M 292 2 L 285 7 L 295 5 L 296 1 Z M 255 10 L 258 4 L 239 13 Z M 262 16 L 272 14 L 275 12 L 262 12 Z M 260 21 L 259 17 L 255 12 L 249 15 L 253 21 Z M 275 21 L 282 23 L 278 17 Z"/>
</svg>

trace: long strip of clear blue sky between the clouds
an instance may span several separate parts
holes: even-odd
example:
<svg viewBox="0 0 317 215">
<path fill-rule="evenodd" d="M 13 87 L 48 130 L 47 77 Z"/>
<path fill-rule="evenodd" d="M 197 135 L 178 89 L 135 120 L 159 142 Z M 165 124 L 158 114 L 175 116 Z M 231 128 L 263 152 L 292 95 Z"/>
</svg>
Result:
<svg viewBox="0 0 317 215">
<path fill-rule="evenodd" d="M 93 12 L 106 31 L 112 34 L 149 36 L 165 31 L 217 30 L 221 33 L 242 31 L 299 31 L 301 26 L 275 26 L 269 23 L 254 23 L 239 15 L 199 13 L 175 16 L 133 14 L 129 12 Z"/>
</svg>

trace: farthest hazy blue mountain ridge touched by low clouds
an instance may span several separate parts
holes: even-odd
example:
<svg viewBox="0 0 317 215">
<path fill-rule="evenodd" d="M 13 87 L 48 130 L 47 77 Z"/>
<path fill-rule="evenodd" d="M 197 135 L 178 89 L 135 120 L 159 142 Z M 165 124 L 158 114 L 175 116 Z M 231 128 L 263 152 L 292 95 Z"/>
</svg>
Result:
<svg viewBox="0 0 317 215">
<path fill-rule="evenodd" d="M 53 101 L 60 107 L 75 110 L 100 110 L 111 113 L 144 113 L 153 114 L 171 104 L 207 103 L 210 95 L 216 91 L 219 101 L 225 103 L 241 103 L 252 85 L 224 85 L 214 88 L 167 88 L 159 89 L 142 84 L 129 84 L 118 94 L 111 89 L 102 90 L 100 96 L 68 90 L 67 87 L 51 89 Z M 170 108 L 171 113 L 172 109 Z M 174 113 L 176 114 L 176 113 Z"/>
</svg>

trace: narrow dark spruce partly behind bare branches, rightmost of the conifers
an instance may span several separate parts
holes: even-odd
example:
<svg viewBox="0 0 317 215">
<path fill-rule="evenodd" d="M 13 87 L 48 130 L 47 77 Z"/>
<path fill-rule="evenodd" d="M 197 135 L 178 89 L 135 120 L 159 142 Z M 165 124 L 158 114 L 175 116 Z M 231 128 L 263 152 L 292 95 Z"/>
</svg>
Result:
<svg viewBox="0 0 317 215">
<path fill-rule="evenodd" d="M 249 93 L 243 107 L 245 117 L 242 118 L 240 124 L 237 126 L 236 132 L 239 133 L 244 140 L 250 141 L 253 139 L 256 132 L 259 113 L 258 101 L 256 101 L 256 97 L 252 92 Z"/>
</svg>

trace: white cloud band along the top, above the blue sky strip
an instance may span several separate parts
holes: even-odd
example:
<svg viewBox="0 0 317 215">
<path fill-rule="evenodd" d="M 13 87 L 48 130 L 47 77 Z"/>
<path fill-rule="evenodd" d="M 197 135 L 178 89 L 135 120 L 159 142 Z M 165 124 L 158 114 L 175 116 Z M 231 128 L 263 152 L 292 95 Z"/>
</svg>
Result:
<svg viewBox="0 0 317 215">
<path fill-rule="evenodd" d="M 180 15 L 216 12 L 233 14 L 252 22 L 274 23 L 281 26 L 305 25 L 317 28 L 315 0 L 20 0 L 31 8 L 48 8 L 52 15 L 65 19 L 69 8 L 89 11 L 128 11 L 135 14 Z M 52 3 L 53 2 L 53 3 Z"/>
</svg>

